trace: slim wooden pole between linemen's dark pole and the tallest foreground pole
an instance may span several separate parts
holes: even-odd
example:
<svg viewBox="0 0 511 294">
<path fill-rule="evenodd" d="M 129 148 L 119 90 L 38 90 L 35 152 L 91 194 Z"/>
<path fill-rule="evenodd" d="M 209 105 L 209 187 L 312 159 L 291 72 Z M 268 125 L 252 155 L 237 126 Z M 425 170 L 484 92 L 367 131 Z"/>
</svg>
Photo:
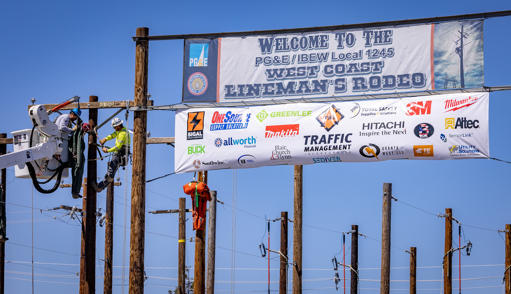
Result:
<svg viewBox="0 0 511 294">
<path fill-rule="evenodd" d="M 110 162 L 108 165 L 110 166 Z M 105 211 L 105 278 L 104 294 L 112 294 L 112 264 L 113 264 L 113 182 L 106 187 Z"/>
</svg>

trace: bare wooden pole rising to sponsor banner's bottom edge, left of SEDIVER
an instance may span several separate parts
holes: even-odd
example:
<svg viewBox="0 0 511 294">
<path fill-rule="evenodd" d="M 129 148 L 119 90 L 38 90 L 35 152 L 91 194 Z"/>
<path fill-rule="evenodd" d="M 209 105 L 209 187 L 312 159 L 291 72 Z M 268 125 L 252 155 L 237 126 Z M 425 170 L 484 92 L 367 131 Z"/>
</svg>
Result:
<svg viewBox="0 0 511 294">
<path fill-rule="evenodd" d="M 303 165 L 294 166 L 294 220 L 293 220 L 293 294 L 301 294 L 301 257 L 303 216 Z"/>
</svg>

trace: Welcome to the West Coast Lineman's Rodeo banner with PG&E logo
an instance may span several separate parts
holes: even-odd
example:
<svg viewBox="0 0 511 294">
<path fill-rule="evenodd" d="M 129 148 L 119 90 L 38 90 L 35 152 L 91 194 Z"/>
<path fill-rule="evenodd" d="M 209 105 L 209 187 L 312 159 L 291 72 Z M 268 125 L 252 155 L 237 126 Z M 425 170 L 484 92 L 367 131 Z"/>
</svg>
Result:
<svg viewBox="0 0 511 294">
<path fill-rule="evenodd" d="M 183 102 L 239 102 L 483 85 L 482 20 L 187 39 Z"/>
</svg>

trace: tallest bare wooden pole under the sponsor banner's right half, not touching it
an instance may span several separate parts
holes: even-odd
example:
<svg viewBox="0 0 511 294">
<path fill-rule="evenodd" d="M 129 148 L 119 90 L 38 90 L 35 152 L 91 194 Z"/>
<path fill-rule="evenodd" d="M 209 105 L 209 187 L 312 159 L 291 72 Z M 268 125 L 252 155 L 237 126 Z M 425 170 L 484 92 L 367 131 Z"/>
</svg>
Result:
<svg viewBox="0 0 511 294">
<path fill-rule="evenodd" d="M 390 213 L 392 208 L 392 184 L 383 183 L 382 211 L 382 268 L 380 293 L 390 293 Z"/>
</svg>

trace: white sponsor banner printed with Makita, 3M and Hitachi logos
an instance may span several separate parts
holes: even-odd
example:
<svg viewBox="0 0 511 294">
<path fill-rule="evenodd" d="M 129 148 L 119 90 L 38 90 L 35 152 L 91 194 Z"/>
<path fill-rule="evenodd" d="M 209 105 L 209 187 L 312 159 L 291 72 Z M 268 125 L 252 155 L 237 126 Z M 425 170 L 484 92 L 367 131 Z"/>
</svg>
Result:
<svg viewBox="0 0 511 294">
<path fill-rule="evenodd" d="M 178 110 L 175 171 L 489 158 L 489 93 Z"/>
</svg>

